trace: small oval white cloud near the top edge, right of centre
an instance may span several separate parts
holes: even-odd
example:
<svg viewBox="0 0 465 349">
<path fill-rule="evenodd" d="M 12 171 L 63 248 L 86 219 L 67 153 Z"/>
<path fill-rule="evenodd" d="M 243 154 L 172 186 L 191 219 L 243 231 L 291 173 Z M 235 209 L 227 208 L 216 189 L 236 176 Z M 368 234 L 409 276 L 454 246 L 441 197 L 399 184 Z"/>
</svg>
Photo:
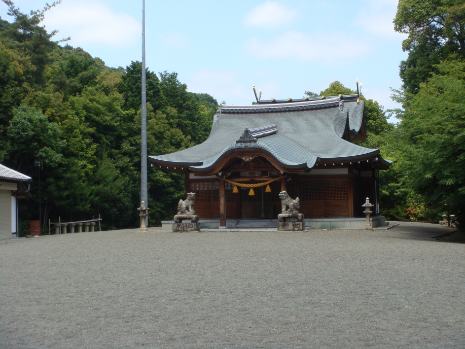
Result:
<svg viewBox="0 0 465 349">
<path fill-rule="evenodd" d="M 297 12 L 278 4 L 275 1 L 267 1 L 245 15 L 246 26 L 272 28 L 293 22 Z"/>
</svg>

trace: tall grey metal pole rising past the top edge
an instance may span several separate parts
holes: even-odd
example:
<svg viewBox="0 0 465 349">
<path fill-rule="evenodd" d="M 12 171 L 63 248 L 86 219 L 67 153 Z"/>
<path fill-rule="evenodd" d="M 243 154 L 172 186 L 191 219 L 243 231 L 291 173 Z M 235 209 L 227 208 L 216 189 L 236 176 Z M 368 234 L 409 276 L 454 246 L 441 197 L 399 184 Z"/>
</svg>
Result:
<svg viewBox="0 0 465 349">
<path fill-rule="evenodd" d="M 141 206 L 148 207 L 147 195 L 147 92 L 146 92 L 146 2 L 142 0 L 142 106 L 141 106 L 141 134 L 140 134 L 140 200 Z M 146 218 L 148 226 L 149 218 Z"/>
</svg>

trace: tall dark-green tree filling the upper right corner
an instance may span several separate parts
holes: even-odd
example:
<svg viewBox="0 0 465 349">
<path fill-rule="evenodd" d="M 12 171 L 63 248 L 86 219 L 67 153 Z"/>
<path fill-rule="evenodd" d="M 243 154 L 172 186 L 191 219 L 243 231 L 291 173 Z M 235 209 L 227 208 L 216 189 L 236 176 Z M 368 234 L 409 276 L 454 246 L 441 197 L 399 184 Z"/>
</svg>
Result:
<svg viewBox="0 0 465 349">
<path fill-rule="evenodd" d="M 435 65 L 453 52 L 465 56 L 465 4 L 462 0 L 400 0 L 394 28 L 409 34 L 402 48 L 409 52 L 400 65 L 407 92 L 438 73 Z"/>
</svg>

